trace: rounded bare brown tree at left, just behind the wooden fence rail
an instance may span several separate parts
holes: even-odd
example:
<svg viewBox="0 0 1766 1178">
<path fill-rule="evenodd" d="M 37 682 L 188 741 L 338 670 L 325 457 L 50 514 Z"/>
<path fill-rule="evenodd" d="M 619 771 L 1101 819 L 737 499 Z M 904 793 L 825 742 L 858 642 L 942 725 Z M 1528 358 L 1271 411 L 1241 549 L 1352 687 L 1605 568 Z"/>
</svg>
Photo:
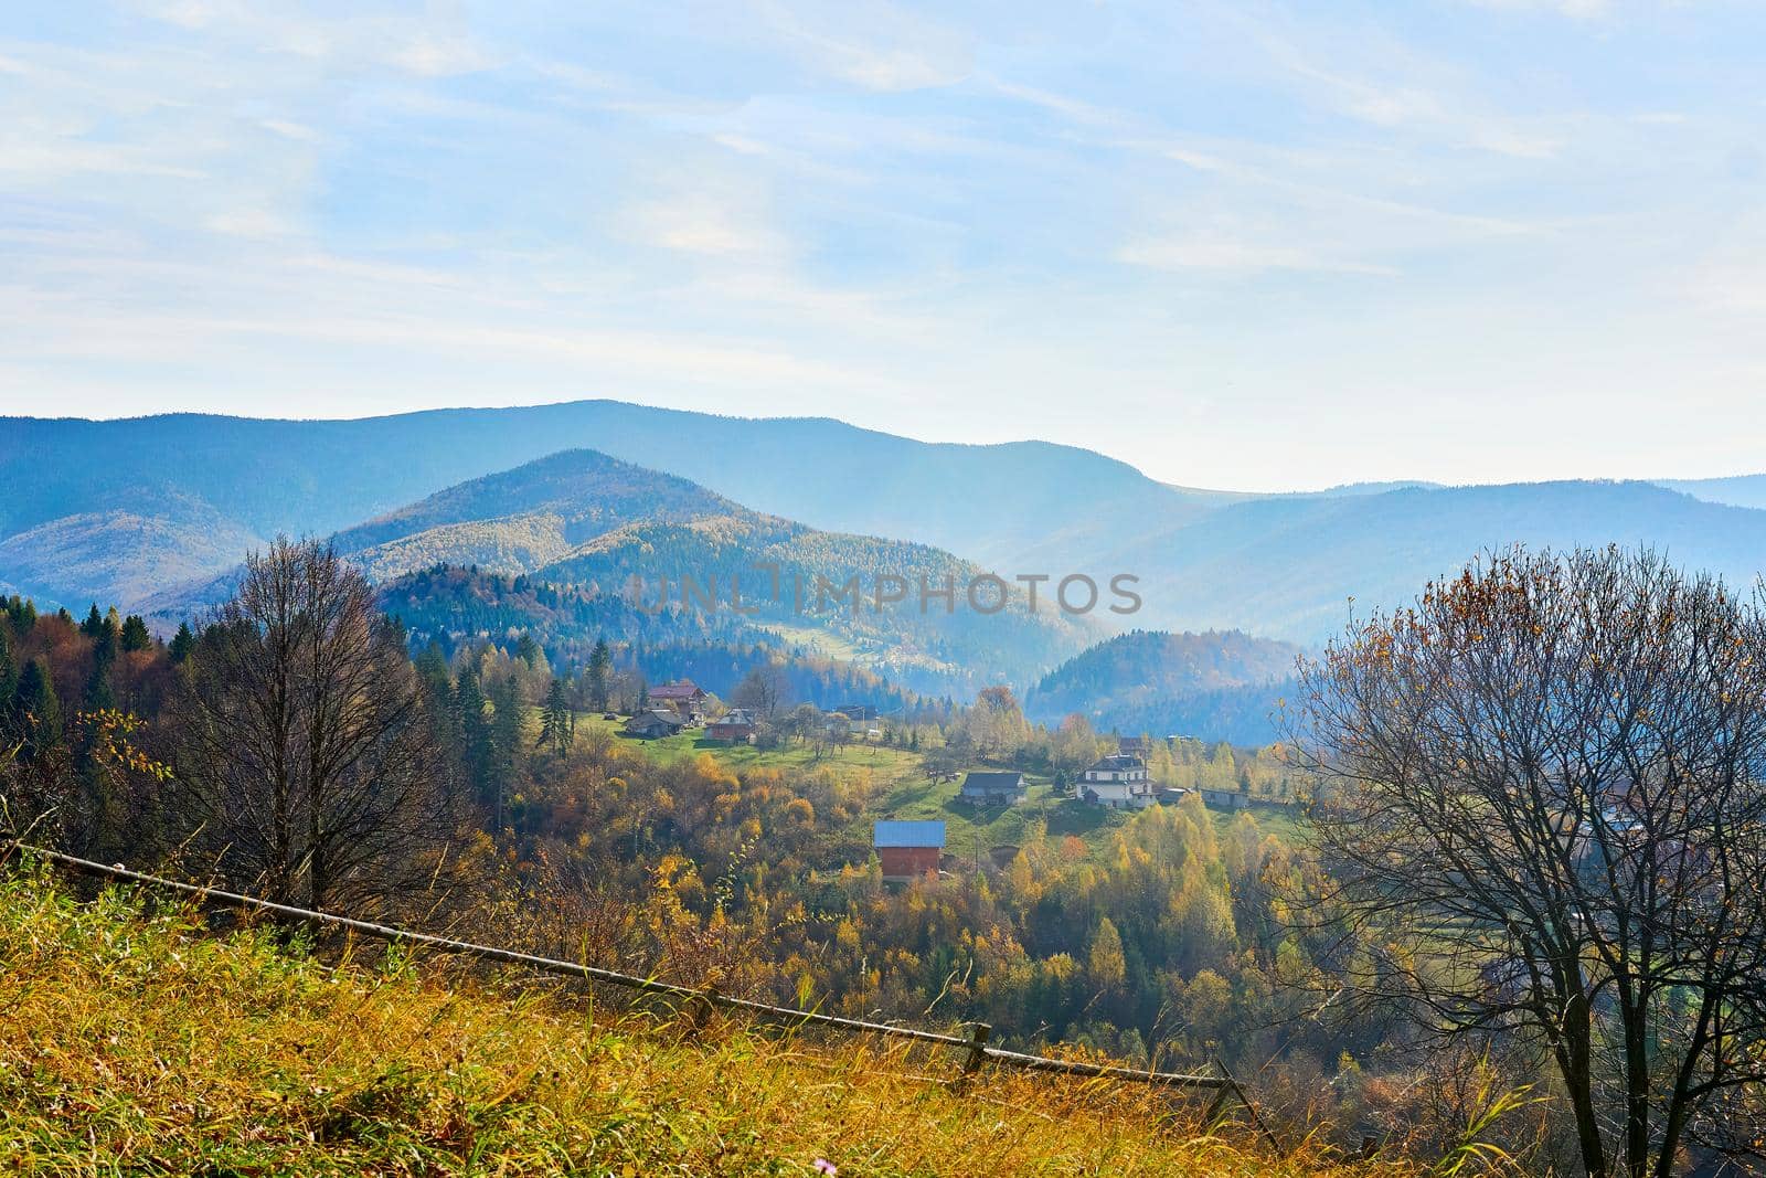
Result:
<svg viewBox="0 0 1766 1178">
<path fill-rule="evenodd" d="M 189 659 L 180 774 L 223 871 L 268 899 L 385 897 L 449 830 L 424 694 L 362 574 L 277 539 Z"/>
</svg>

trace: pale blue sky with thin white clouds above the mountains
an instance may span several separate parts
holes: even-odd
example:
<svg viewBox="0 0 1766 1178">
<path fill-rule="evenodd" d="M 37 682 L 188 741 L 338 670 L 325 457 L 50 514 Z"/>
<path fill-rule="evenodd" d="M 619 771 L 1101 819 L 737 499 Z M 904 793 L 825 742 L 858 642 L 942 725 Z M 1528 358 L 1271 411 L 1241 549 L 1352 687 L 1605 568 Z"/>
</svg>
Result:
<svg viewBox="0 0 1766 1178">
<path fill-rule="evenodd" d="M 0 413 L 1766 470 L 1766 5 L 0 7 Z"/>
</svg>

